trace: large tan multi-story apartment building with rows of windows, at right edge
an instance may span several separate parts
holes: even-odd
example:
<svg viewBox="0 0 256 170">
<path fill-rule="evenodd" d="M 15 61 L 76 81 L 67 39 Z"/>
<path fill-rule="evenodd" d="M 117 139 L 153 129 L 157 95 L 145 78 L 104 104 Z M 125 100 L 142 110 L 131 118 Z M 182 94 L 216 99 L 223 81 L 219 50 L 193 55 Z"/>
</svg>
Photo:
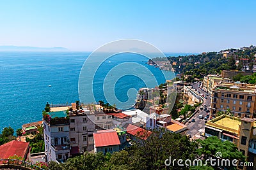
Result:
<svg viewBox="0 0 256 170">
<path fill-rule="evenodd" d="M 211 117 L 218 111 L 230 109 L 235 117 L 253 117 L 255 113 L 255 85 L 246 83 L 219 83 L 212 90 Z"/>
</svg>

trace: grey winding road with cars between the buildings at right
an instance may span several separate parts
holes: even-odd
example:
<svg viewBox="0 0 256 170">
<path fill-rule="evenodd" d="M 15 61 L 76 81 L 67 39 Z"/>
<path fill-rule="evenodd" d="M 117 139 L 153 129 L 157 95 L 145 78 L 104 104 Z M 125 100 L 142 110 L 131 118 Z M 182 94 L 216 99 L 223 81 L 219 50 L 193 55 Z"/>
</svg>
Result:
<svg viewBox="0 0 256 170">
<path fill-rule="evenodd" d="M 201 94 L 204 94 L 206 96 L 206 93 L 198 87 L 199 83 L 193 84 L 193 89 L 198 90 Z M 207 96 L 207 99 L 204 99 L 204 103 L 202 106 L 205 104 L 207 109 L 211 104 L 209 96 Z M 194 118 L 195 122 L 188 122 L 186 125 L 188 125 L 188 134 L 191 134 L 192 139 L 198 139 L 200 138 L 200 132 L 199 130 L 202 129 L 201 131 L 204 132 L 204 126 L 205 126 L 205 120 L 198 118 L 199 115 L 204 115 L 206 117 L 207 113 L 204 110 L 198 111 L 190 120 L 189 122 Z"/>
</svg>

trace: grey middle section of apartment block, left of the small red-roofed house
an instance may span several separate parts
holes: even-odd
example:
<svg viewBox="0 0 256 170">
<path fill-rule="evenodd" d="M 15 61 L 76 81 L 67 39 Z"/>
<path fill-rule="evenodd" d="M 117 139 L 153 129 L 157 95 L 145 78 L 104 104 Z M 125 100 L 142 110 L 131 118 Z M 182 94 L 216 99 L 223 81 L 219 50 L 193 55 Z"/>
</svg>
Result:
<svg viewBox="0 0 256 170">
<path fill-rule="evenodd" d="M 79 110 L 69 113 L 71 155 L 91 151 L 94 148 L 93 132 L 96 132 L 95 124 L 87 115 L 90 115 L 90 110 Z"/>
</svg>

